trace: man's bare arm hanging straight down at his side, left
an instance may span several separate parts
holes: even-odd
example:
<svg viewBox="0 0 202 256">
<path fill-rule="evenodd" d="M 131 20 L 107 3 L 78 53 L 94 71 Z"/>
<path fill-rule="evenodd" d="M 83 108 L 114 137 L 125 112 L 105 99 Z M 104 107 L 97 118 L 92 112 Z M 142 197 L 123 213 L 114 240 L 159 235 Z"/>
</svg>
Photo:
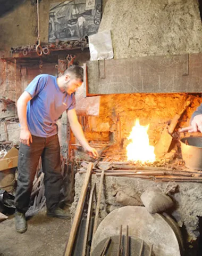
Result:
<svg viewBox="0 0 202 256">
<path fill-rule="evenodd" d="M 31 133 L 27 125 L 27 103 L 32 99 L 31 95 L 24 91 L 17 102 L 18 117 L 20 121 L 20 142 L 24 145 L 30 145 L 32 143 Z"/>
</svg>

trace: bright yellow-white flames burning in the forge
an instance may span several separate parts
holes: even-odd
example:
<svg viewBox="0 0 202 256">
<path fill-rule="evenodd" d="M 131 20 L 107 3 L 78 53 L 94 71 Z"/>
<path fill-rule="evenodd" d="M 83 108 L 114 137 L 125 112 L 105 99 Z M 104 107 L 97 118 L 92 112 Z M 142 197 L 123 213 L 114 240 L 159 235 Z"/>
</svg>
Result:
<svg viewBox="0 0 202 256">
<path fill-rule="evenodd" d="M 136 119 L 128 137 L 131 140 L 131 143 L 127 146 L 129 161 L 140 161 L 142 163 L 155 161 L 154 147 L 149 145 L 148 127 L 149 125 L 141 126 L 139 119 Z"/>
</svg>

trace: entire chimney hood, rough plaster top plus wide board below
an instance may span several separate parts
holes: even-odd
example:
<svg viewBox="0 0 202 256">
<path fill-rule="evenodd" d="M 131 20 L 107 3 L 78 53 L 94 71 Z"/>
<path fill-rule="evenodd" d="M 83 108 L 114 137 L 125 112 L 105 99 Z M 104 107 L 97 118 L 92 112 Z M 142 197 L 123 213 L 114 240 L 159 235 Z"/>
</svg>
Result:
<svg viewBox="0 0 202 256">
<path fill-rule="evenodd" d="M 87 95 L 202 91 L 197 0 L 105 2 L 99 32 L 111 30 L 114 59 L 87 62 Z"/>
</svg>

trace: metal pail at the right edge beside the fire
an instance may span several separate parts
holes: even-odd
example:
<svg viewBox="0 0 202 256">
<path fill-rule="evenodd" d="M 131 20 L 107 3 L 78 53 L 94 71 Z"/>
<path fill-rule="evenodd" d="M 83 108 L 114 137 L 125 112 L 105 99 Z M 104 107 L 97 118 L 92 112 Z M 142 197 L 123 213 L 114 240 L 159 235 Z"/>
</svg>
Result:
<svg viewBox="0 0 202 256">
<path fill-rule="evenodd" d="M 184 137 L 180 143 L 185 165 L 191 169 L 202 170 L 202 137 Z"/>
</svg>

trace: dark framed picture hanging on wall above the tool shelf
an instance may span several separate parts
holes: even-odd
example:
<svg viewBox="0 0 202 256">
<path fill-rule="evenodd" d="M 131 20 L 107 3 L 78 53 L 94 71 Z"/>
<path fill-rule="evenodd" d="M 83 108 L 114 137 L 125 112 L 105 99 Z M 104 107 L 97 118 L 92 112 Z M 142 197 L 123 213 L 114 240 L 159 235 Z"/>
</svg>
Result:
<svg viewBox="0 0 202 256">
<path fill-rule="evenodd" d="M 77 40 L 96 34 L 102 18 L 102 0 L 51 3 L 48 41 Z"/>
</svg>

